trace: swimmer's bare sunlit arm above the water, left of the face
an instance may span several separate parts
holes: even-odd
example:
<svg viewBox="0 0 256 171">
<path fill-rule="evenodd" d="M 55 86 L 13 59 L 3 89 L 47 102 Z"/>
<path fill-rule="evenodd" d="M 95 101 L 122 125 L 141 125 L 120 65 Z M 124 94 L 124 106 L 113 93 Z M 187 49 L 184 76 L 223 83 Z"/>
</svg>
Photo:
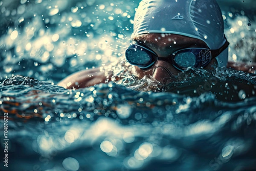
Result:
<svg viewBox="0 0 256 171">
<path fill-rule="evenodd" d="M 111 75 L 105 75 L 102 68 L 94 68 L 75 72 L 61 80 L 58 85 L 66 89 L 79 89 L 105 83 L 110 77 Z"/>
</svg>

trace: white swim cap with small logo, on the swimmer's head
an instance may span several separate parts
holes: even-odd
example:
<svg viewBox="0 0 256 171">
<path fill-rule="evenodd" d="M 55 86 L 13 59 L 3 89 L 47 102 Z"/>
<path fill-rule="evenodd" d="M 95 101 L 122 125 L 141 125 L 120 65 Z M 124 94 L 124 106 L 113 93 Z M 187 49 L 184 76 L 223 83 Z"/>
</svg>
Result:
<svg viewBox="0 0 256 171">
<path fill-rule="evenodd" d="M 226 42 L 221 9 L 215 0 L 142 0 L 134 16 L 132 37 L 145 33 L 171 33 L 197 38 L 210 49 Z M 216 57 L 226 67 L 228 48 Z"/>
</svg>

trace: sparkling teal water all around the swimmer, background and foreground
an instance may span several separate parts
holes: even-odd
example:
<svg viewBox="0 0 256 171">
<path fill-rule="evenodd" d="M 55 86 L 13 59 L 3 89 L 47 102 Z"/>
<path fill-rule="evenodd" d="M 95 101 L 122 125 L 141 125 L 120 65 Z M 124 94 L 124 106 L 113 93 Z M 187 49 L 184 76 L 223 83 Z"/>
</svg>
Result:
<svg viewBox="0 0 256 171">
<path fill-rule="evenodd" d="M 256 170 L 255 74 L 189 69 L 167 86 L 137 80 L 123 55 L 138 1 L 13 2 L 1 1 L 9 163 L 0 170 Z M 240 10 L 224 15 L 230 60 L 252 60 L 255 20 Z M 112 62 L 108 84 L 56 85 Z"/>
</svg>

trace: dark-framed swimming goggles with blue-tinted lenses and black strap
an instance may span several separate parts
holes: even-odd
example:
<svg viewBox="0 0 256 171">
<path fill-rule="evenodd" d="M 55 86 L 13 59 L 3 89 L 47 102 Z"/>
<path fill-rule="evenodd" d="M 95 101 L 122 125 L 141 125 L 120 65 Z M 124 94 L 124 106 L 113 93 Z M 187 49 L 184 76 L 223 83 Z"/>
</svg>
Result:
<svg viewBox="0 0 256 171">
<path fill-rule="evenodd" d="M 224 49 L 229 45 L 226 43 L 216 50 L 210 50 L 207 48 L 186 48 L 180 49 L 174 52 L 169 57 L 158 57 L 157 54 L 141 44 L 131 44 L 125 51 L 125 57 L 127 61 L 136 65 L 141 69 L 147 69 L 151 67 L 156 61 L 166 61 L 171 63 L 177 70 L 184 71 L 188 67 L 204 68 L 209 62 L 217 57 Z"/>
</svg>

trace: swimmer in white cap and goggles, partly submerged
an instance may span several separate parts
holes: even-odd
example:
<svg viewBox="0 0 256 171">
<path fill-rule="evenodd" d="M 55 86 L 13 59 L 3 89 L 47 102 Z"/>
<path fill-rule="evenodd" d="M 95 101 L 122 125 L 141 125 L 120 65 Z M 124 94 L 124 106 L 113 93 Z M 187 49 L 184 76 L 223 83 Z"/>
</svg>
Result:
<svg viewBox="0 0 256 171">
<path fill-rule="evenodd" d="M 139 78 L 151 75 L 161 84 L 188 67 L 228 67 L 254 73 L 255 64 L 228 62 L 221 9 L 215 0 L 142 0 L 134 16 L 131 46 L 125 52 Z M 102 68 L 82 70 L 58 85 L 90 87 L 111 80 Z"/>
</svg>

